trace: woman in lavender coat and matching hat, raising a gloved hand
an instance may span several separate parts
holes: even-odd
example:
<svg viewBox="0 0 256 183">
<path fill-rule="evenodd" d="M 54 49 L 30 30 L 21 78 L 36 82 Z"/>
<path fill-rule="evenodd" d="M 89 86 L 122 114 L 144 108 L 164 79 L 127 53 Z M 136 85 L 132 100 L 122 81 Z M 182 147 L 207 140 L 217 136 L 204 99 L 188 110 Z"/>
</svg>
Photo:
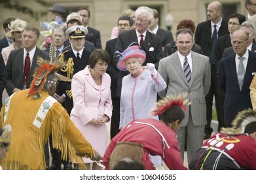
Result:
<svg viewBox="0 0 256 183">
<path fill-rule="evenodd" d="M 133 42 L 134 44 L 137 42 Z M 130 44 L 130 45 L 132 45 Z M 139 46 L 128 46 L 117 63 L 120 71 L 128 70 L 130 75 L 122 78 L 122 90 L 120 97 L 120 125 L 124 129 L 127 124 L 135 119 L 155 118 L 151 116 L 151 108 L 156 107 L 157 92 L 166 88 L 166 82 L 155 69 L 153 63 L 145 62 L 146 53 L 139 49 Z M 161 166 L 160 157 L 151 157 L 155 167 Z"/>
</svg>

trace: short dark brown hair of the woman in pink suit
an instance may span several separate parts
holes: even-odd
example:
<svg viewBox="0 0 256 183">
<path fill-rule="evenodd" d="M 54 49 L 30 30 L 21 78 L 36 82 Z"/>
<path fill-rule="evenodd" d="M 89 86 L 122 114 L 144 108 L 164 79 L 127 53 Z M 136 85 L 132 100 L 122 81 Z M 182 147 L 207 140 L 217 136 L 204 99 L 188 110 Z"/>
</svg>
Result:
<svg viewBox="0 0 256 183">
<path fill-rule="evenodd" d="M 110 56 L 105 50 L 96 49 L 90 54 L 89 63 L 90 68 L 94 69 L 96 63 L 101 59 L 101 61 L 106 62 L 107 64 L 110 63 Z"/>
</svg>

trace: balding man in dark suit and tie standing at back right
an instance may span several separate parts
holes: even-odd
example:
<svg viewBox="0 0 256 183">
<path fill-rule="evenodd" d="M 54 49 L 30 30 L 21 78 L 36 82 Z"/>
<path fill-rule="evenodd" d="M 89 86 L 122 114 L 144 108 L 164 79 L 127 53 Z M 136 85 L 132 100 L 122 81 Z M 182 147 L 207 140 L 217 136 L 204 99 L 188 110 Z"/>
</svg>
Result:
<svg viewBox="0 0 256 183">
<path fill-rule="evenodd" d="M 206 95 L 207 124 L 204 139 L 209 139 L 212 132 L 210 125 L 213 97 L 215 98 L 217 116 L 220 113 L 219 94 L 217 92 L 217 65 L 215 65 L 215 45 L 218 37 L 229 34 L 228 23 L 221 17 L 222 13 L 223 7 L 219 1 L 211 2 L 207 7 L 208 20 L 197 25 L 194 35 L 194 42 L 202 48 L 205 56 L 209 56 L 211 64 L 211 87 L 208 95 Z M 217 32 L 217 35 L 215 32 Z"/>
</svg>

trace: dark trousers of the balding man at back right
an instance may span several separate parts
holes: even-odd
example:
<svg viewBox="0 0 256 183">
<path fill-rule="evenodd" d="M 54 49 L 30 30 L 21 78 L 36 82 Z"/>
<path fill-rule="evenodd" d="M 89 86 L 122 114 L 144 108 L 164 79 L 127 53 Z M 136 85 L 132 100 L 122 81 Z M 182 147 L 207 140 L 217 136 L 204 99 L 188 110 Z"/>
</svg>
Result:
<svg viewBox="0 0 256 183">
<path fill-rule="evenodd" d="M 221 121 L 220 118 L 220 108 L 219 108 L 219 93 L 217 89 L 217 69 L 215 65 L 211 65 L 211 86 L 208 94 L 206 95 L 206 120 L 207 124 L 205 127 L 205 133 L 210 134 L 213 131 L 211 127 L 211 118 L 212 118 L 212 107 L 213 107 L 213 97 L 215 97 L 215 107 L 217 112 L 218 121 Z"/>
</svg>

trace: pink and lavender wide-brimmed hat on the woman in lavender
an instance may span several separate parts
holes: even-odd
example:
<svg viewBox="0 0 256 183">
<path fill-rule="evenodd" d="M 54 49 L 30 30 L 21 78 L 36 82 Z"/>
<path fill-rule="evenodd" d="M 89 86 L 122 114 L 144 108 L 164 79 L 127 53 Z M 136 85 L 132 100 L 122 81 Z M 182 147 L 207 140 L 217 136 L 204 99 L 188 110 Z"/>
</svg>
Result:
<svg viewBox="0 0 256 183">
<path fill-rule="evenodd" d="M 132 44 L 137 42 L 132 42 Z M 130 44 L 128 48 L 122 52 L 121 57 L 119 58 L 119 62 L 117 63 L 117 68 L 119 68 L 120 71 L 127 71 L 126 66 L 124 65 L 124 61 L 128 58 L 141 58 L 142 63 L 145 62 L 146 59 L 146 53 L 144 50 L 139 49 L 139 45 L 131 46 Z M 141 63 L 141 64 L 142 64 Z"/>
</svg>

